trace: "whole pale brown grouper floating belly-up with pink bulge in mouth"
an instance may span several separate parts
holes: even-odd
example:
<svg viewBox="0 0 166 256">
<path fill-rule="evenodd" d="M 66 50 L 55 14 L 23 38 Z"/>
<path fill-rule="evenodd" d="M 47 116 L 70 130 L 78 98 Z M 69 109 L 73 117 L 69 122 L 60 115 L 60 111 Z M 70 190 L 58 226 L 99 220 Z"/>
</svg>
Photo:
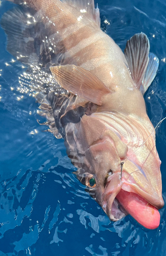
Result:
<svg viewBox="0 0 166 256">
<path fill-rule="evenodd" d="M 93 0 L 11 0 L 7 50 L 54 84 L 34 84 L 40 114 L 64 138 L 77 178 L 108 215 L 155 229 L 163 207 L 155 130 L 144 93 L 159 60 L 144 33 L 124 53 L 100 28 Z M 36 77 L 38 77 L 36 68 Z M 37 81 L 38 78 L 36 78 Z"/>
</svg>

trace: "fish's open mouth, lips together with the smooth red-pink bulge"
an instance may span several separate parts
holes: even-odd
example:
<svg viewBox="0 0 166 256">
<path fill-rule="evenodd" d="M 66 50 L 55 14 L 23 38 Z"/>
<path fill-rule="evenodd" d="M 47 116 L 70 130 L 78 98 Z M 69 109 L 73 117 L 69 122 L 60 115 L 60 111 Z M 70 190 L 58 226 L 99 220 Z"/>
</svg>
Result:
<svg viewBox="0 0 166 256">
<path fill-rule="evenodd" d="M 113 184 L 111 184 L 113 183 Z M 155 229 L 160 223 L 158 209 L 164 205 L 163 199 L 154 191 L 153 195 L 129 184 L 119 173 L 109 179 L 103 194 L 103 209 L 112 221 L 130 214 L 139 224 Z"/>
</svg>

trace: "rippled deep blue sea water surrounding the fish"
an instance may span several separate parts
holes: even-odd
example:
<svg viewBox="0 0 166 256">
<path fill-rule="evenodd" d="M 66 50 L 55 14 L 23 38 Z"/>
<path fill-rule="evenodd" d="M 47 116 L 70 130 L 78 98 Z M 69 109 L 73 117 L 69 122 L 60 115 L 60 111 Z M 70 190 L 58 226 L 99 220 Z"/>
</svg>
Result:
<svg viewBox="0 0 166 256">
<path fill-rule="evenodd" d="M 155 126 L 166 116 L 166 2 L 98 0 L 98 5 L 102 29 L 122 50 L 132 35 L 144 32 L 159 58 L 157 76 L 145 94 Z M 12 7 L 2 1 L 0 15 Z M 131 216 L 109 221 L 72 174 L 63 139 L 38 124 L 37 119 L 44 121 L 38 103 L 17 90 L 26 68 L 6 51 L 2 28 L 0 38 L 0 256 L 166 255 L 165 206 L 155 230 Z M 164 201 L 165 128 L 163 121 L 156 130 Z"/>
</svg>

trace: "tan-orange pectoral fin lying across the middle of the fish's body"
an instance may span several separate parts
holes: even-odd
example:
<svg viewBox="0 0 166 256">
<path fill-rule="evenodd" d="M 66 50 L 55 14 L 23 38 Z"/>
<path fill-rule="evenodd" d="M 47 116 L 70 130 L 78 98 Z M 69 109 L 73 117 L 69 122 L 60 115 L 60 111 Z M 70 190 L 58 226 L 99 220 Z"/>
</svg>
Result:
<svg viewBox="0 0 166 256">
<path fill-rule="evenodd" d="M 65 90 L 97 105 L 102 105 L 102 97 L 111 93 L 97 76 L 81 67 L 64 65 L 51 67 L 50 70 Z"/>
</svg>

